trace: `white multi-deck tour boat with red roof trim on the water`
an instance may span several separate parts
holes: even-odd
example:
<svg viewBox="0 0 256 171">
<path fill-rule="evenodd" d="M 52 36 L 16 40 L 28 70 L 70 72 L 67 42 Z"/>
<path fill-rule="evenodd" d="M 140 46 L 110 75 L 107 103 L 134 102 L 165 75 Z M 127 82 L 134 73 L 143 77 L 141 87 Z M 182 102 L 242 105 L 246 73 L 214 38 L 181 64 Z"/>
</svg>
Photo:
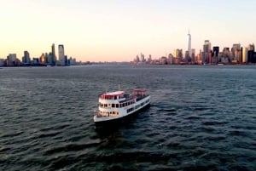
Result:
<svg viewBox="0 0 256 171">
<path fill-rule="evenodd" d="M 144 89 L 134 89 L 131 94 L 115 91 L 99 96 L 98 110 L 93 117 L 96 125 L 116 123 L 125 117 L 146 109 L 150 105 L 150 95 Z"/>
</svg>

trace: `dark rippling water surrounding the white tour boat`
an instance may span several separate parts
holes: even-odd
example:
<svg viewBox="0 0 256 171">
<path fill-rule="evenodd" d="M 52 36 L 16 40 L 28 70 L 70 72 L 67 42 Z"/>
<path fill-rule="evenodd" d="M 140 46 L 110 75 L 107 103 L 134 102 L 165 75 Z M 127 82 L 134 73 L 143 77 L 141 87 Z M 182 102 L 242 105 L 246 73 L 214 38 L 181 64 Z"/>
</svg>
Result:
<svg viewBox="0 0 256 171">
<path fill-rule="evenodd" d="M 97 130 L 97 96 L 147 88 L 152 105 Z M 255 66 L 0 70 L 0 170 L 256 170 Z"/>
</svg>

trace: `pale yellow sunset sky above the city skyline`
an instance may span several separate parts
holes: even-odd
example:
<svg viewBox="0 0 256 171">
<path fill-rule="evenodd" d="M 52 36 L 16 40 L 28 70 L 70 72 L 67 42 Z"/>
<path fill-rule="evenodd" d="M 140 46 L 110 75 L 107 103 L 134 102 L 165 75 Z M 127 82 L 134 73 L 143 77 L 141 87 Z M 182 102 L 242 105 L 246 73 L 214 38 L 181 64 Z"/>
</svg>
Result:
<svg viewBox="0 0 256 171">
<path fill-rule="evenodd" d="M 192 48 L 256 43 L 255 0 L 0 0 L 0 58 L 63 44 L 81 61 L 153 59 Z"/>
</svg>

